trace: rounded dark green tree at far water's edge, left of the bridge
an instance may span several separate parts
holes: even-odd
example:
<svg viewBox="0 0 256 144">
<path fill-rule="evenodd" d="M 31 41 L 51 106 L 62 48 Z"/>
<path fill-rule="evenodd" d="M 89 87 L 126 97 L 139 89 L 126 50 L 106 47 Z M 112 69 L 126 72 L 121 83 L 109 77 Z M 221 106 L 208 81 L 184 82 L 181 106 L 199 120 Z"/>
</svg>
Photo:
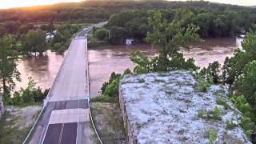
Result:
<svg viewBox="0 0 256 144">
<path fill-rule="evenodd" d="M 30 30 L 24 41 L 23 50 L 29 55 L 31 55 L 30 53 L 34 53 L 35 56 L 37 56 L 37 53 L 42 55 L 47 50 L 46 33 L 42 30 Z"/>
</svg>

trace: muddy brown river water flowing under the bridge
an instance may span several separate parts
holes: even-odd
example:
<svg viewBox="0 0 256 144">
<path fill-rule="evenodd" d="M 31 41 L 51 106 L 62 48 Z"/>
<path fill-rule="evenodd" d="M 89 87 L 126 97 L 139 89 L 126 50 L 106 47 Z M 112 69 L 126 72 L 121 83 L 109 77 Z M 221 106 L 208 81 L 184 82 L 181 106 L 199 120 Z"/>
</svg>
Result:
<svg viewBox="0 0 256 144">
<path fill-rule="evenodd" d="M 210 62 L 223 63 L 226 56 L 232 56 L 234 50 L 241 47 L 240 38 L 214 38 L 205 42 L 193 44 L 190 51 L 182 50 L 185 58 L 194 58 L 198 66 L 208 66 Z M 154 56 L 157 50 L 151 46 L 114 46 L 104 49 L 88 50 L 90 63 L 90 94 L 98 95 L 102 83 L 108 81 L 112 71 L 122 73 L 126 68 L 132 69 L 134 64 L 130 62 L 129 55 L 138 50 L 142 54 Z M 18 70 L 21 73 L 22 82 L 18 82 L 16 90 L 26 87 L 27 78 L 32 77 L 37 86 L 42 89 L 50 88 L 64 56 L 47 51 L 47 55 L 40 58 L 24 58 L 18 62 Z"/>
</svg>

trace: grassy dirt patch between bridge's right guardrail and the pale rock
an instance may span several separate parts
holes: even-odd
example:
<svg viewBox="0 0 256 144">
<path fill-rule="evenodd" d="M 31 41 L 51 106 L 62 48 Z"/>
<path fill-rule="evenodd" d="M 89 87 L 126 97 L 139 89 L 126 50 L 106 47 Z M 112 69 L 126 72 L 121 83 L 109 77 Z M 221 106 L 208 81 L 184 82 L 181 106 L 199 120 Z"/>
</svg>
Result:
<svg viewBox="0 0 256 144">
<path fill-rule="evenodd" d="M 91 111 L 103 143 L 126 143 L 126 134 L 118 104 L 92 102 Z"/>
</svg>

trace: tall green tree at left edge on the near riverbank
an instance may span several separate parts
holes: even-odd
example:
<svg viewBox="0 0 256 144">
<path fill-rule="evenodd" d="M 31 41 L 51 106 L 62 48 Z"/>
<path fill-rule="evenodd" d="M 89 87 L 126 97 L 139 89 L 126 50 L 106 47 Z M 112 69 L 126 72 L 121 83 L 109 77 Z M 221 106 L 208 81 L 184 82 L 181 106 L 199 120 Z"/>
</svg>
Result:
<svg viewBox="0 0 256 144">
<path fill-rule="evenodd" d="M 0 39 L 0 78 L 2 90 L 7 94 L 14 90 L 14 79 L 20 81 L 17 70 L 18 54 L 13 50 L 14 38 L 5 35 Z"/>
</svg>

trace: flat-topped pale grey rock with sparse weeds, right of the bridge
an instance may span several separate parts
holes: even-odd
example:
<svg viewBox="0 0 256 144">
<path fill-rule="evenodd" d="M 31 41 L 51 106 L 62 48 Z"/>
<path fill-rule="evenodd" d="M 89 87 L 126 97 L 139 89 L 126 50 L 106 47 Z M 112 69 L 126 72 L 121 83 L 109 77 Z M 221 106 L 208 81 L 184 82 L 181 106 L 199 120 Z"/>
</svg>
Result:
<svg viewBox="0 0 256 144">
<path fill-rule="evenodd" d="M 130 144 L 250 143 L 225 87 L 202 92 L 186 71 L 126 75 L 119 101 Z"/>
</svg>

